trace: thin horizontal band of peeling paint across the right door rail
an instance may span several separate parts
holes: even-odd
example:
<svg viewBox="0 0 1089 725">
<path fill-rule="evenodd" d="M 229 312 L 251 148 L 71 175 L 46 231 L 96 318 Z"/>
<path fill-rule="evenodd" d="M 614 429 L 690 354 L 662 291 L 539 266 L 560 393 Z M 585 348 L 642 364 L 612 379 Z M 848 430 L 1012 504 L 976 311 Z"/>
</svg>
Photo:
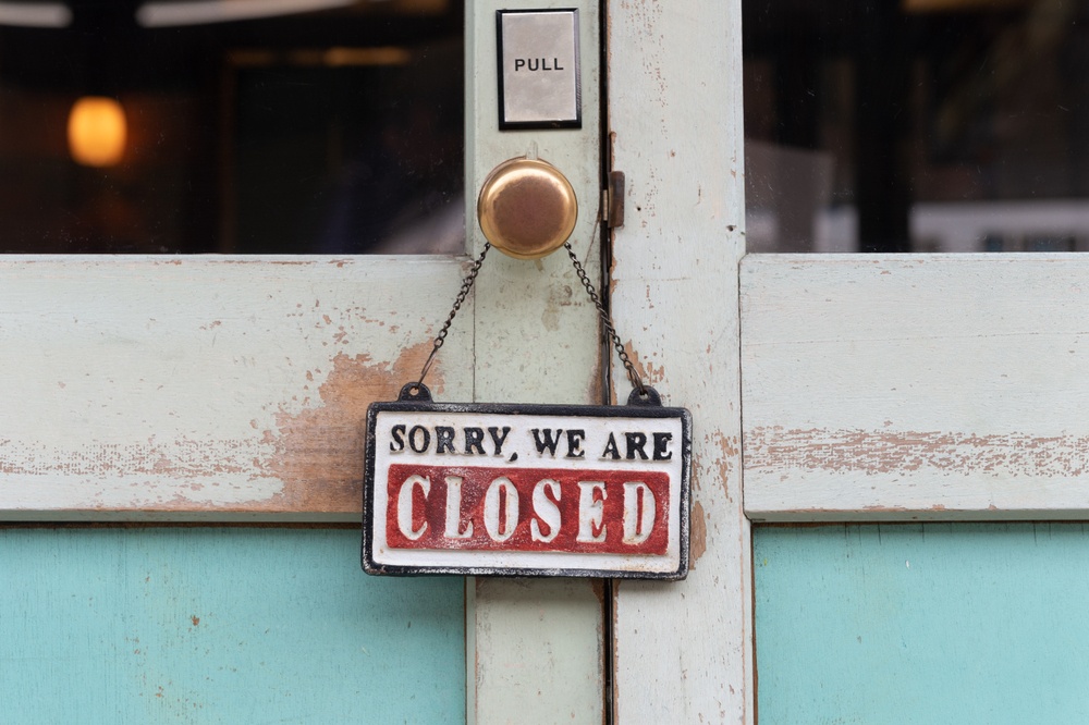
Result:
<svg viewBox="0 0 1089 725">
<path fill-rule="evenodd" d="M 1074 478 L 1089 471 L 1089 437 L 772 426 L 746 432 L 745 465 L 751 470 Z"/>
</svg>

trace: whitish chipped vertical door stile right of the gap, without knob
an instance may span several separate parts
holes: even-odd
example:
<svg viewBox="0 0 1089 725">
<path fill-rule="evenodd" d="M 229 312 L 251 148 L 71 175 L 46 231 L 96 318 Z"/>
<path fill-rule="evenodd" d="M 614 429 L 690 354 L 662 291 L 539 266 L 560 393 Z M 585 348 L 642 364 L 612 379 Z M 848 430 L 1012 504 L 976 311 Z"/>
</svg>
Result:
<svg viewBox="0 0 1089 725">
<path fill-rule="evenodd" d="M 741 497 L 737 262 L 744 250 L 741 7 L 610 7 L 609 127 L 627 174 L 616 327 L 695 430 L 693 570 L 621 582 L 619 723 L 752 722 L 748 521 Z M 622 369 L 616 393 L 627 395 Z"/>
</svg>

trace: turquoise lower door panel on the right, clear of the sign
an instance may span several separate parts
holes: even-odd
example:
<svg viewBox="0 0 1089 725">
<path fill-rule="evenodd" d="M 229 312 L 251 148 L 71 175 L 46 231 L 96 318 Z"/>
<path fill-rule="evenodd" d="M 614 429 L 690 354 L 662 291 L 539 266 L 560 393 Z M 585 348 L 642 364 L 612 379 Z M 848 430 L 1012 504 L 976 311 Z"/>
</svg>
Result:
<svg viewBox="0 0 1089 725">
<path fill-rule="evenodd" d="M 1086 526 L 752 539 L 761 725 L 1089 723 Z"/>
</svg>

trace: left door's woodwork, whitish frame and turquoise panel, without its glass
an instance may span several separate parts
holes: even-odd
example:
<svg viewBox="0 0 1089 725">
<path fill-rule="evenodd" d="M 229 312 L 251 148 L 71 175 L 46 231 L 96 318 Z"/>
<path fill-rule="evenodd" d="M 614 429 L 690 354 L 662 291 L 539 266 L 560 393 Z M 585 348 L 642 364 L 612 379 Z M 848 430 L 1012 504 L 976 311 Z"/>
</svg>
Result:
<svg viewBox="0 0 1089 725">
<path fill-rule="evenodd" d="M 580 13 L 583 126 L 500 133 L 502 5 L 467 3 L 465 255 L 0 259 L 0 688 L 21 722 L 600 721 L 600 585 L 368 578 L 357 549 L 367 405 L 417 379 L 490 169 L 559 167 L 599 274 L 599 9 L 552 5 Z M 597 320 L 566 257 L 493 251 L 427 382 L 599 403 Z"/>
</svg>

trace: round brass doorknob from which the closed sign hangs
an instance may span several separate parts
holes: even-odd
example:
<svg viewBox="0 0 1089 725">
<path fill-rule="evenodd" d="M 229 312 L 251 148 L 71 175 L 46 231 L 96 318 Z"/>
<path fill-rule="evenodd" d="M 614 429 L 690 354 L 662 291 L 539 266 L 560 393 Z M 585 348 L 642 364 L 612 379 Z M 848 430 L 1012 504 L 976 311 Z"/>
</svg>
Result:
<svg viewBox="0 0 1089 725">
<path fill-rule="evenodd" d="M 547 161 L 518 157 L 495 167 L 480 188 L 480 231 L 500 251 L 539 259 L 560 248 L 575 230 L 575 189 Z"/>
</svg>

